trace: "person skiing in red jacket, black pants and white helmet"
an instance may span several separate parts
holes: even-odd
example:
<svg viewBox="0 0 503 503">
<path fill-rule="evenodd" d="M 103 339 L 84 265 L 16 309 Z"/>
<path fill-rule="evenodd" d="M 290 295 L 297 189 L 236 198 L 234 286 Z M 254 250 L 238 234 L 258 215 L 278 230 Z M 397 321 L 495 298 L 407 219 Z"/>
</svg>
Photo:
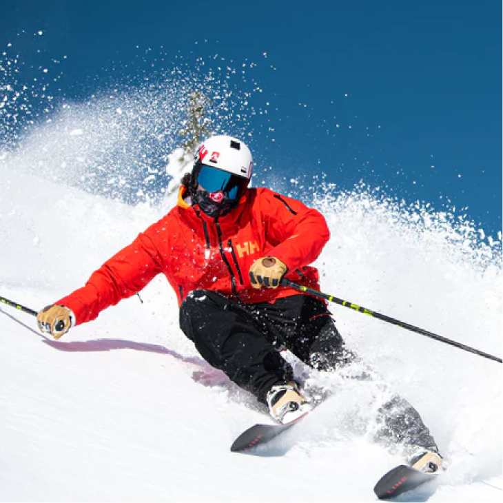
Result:
<svg viewBox="0 0 503 503">
<path fill-rule="evenodd" d="M 251 171 L 245 143 L 223 135 L 207 139 L 182 178 L 176 207 L 94 271 L 83 288 L 42 309 L 40 329 L 59 339 L 162 273 L 178 297 L 182 331 L 212 367 L 267 404 L 278 422 L 310 410 L 280 350 L 319 371 L 358 361 L 325 302 L 281 285 L 285 276 L 319 289 L 318 270 L 309 264 L 329 229 L 316 209 L 248 187 Z M 440 468 L 435 440 L 408 402 L 394 396 L 379 415 L 378 438 L 404 444 L 416 468 Z"/>
</svg>

